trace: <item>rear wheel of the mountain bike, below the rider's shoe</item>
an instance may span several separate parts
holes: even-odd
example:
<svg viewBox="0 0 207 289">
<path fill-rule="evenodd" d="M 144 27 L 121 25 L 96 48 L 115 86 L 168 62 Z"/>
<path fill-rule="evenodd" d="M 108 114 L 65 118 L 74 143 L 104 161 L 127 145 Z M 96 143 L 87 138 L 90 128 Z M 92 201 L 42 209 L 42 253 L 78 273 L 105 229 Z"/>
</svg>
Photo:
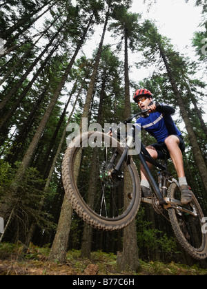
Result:
<svg viewBox="0 0 207 289">
<path fill-rule="evenodd" d="M 170 184 L 168 197 L 180 200 L 180 195 L 177 184 Z M 207 257 L 207 233 L 202 230 L 205 217 L 195 195 L 193 195 L 193 201 L 183 207 L 195 212 L 197 216 L 181 211 L 179 206 L 169 208 L 168 214 L 173 231 L 190 256 L 198 260 L 205 259 Z"/>
</svg>

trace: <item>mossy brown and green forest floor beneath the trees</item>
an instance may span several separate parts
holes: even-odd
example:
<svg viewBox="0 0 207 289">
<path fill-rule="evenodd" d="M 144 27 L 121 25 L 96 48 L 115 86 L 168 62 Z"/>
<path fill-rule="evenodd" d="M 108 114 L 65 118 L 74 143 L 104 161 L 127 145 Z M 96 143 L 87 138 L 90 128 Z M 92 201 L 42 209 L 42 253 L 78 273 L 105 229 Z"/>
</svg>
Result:
<svg viewBox="0 0 207 289">
<path fill-rule="evenodd" d="M 90 259 L 80 257 L 80 251 L 68 252 L 66 264 L 47 261 L 48 248 L 31 246 L 27 255 L 22 255 L 22 246 L 0 244 L 0 275 L 69 275 L 83 276 L 92 266 L 97 275 L 207 275 L 207 269 L 184 264 L 164 264 L 159 261 L 141 261 L 138 272 L 118 272 L 117 256 L 101 251 L 91 253 Z M 92 274 L 91 274 L 92 275 Z"/>
</svg>

